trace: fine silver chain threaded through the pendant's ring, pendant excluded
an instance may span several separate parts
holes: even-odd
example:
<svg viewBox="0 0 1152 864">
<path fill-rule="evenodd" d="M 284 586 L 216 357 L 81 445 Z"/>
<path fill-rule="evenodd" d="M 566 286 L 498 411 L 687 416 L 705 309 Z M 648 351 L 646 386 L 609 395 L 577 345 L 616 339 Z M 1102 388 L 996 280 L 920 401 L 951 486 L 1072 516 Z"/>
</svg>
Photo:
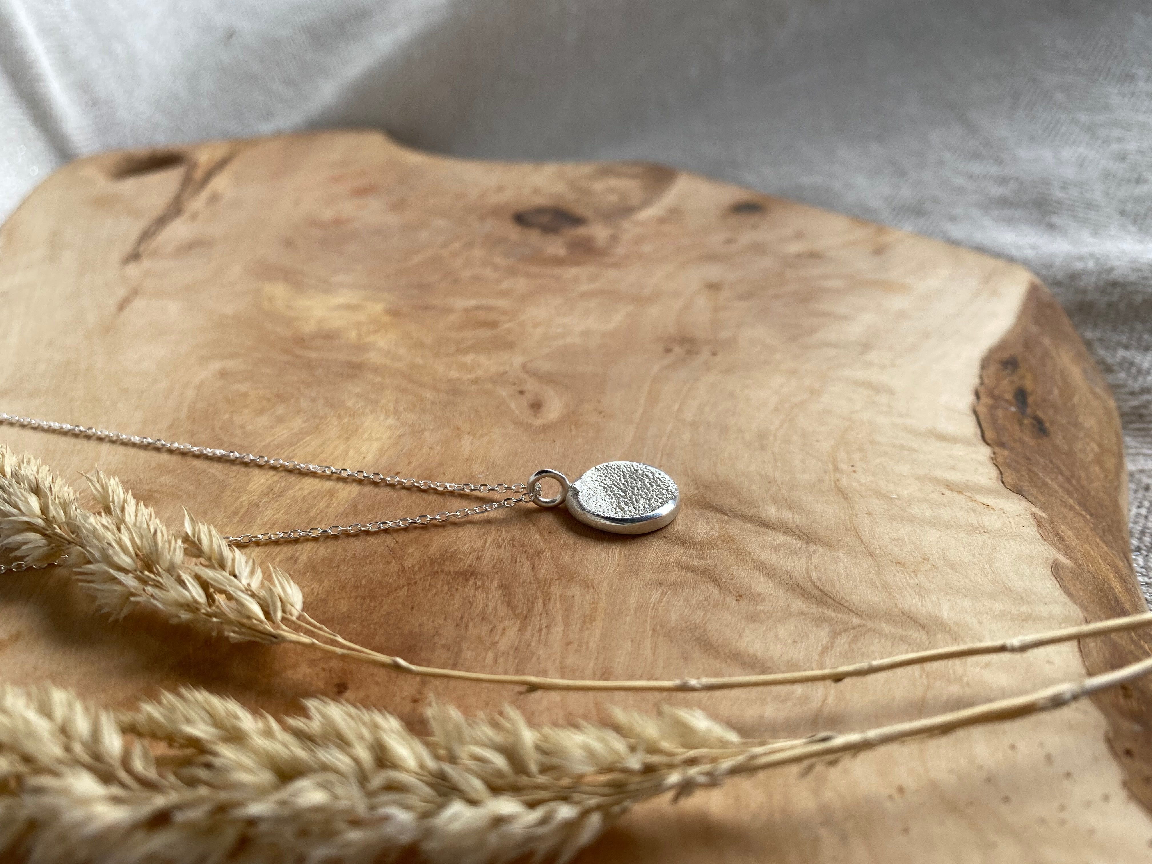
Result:
<svg viewBox="0 0 1152 864">
<path fill-rule="evenodd" d="M 225 462 L 240 462 L 245 465 L 259 465 L 262 468 L 273 468 L 281 471 L 296 471 L 298 473 L 323 475 L 325 477 L 339 477 L 362 483 L 376 483 L 386 486 L 402 486 L 404 488 L 430 490 L 434 492 L 462 492 L 479 494 L 502 494 L 513 493 L 499 501 L 485 501 L 476 507 L 462 507 L 458 510 L 441 510 L 438 514 L 420 514 L 419 516 L 403 517 L 399 520 L 377 520 L 376 522 L 354 522 L 349 525 L 331 525 L 329 528 L 294 528 L 288 531 L 266 531 L 264 533 L 245 533 L 235 537 L 225 537 L 233 546 L 247 546 L 250 543 L 273 543 L 278 540 L 304 540 L 319 537 L 339 537 L 340 535 L 376 533 L 378 531 L 389 531 L 401 528 L 416 528 L 433 523 L 460 520 L 468 516 L 477 516 L 482 513 L 491 513 L 501 507 L 515 507 L 518 503 L 536 502 L 539 498 L 539 485 L 533 484 L 529 490 L 526 483 L 446 483 L 441 480 L 418 480 L 414 477 L 400 477 L 397 475 L 382 475 L 378 471 L 365 471 L 350 468 L 334 468 L 332 465 L 313 465 L 308 462 L 296 460 L 268 458 L 252 453 L 240 453 L 237 450 L 222 450 L 215 447 L 198 447 L 179 441 L 165 441 L 162 438 L 147 438 L 144 435 L 128 435 L 123 432 L 111 432 L 106 429 L 94 429 L 92 426 L 78 426 L 71 423 L 55 423 L 53 420 L 41 420 L 33 417 L 18 417 L 12 414 L 0 414 L 0 424 L 12 426 L 23 426 L 24 429 L 36 429 L 46 432 L 61 432 L 65 434 L 78 435 L 82 438 L 94 438 L 99 441 L 111 441 L 132 447 L 144 447 L 154 450 L 168 450 L 169 453 L 181 453 L 189 456 L 202 456 L 215 458 Z M 60 563 L 59 561 L 54 563 Z M 0 573 L 8 570 L 41 569 L 48 564 L 0 564 Z"/>
</svg>

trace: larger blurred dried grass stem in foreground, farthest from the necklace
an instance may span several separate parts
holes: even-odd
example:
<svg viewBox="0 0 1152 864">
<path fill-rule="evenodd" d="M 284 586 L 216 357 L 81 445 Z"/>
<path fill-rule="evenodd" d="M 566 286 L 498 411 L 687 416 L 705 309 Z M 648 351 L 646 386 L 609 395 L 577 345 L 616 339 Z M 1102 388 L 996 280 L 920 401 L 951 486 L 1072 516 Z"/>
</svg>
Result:
<svg viewBox="0 0 1152 864">
<path fill-rule="evenodd" d="M 1139 667 L 1138 669 L 1136 667 Z M 1028 696 L 842 735 L 744 741 L 703 712 L 615 712 L 613 727 L 530 727 L 513 710 L 392 714 L 309 699 L 274 720 L 203 690 L 135 711 L 54 688 L 0 689 L 0 852 L 38 864 L 567 861 L 631 806 L 1059 707 L 1152 660 Z"/>
</svg>

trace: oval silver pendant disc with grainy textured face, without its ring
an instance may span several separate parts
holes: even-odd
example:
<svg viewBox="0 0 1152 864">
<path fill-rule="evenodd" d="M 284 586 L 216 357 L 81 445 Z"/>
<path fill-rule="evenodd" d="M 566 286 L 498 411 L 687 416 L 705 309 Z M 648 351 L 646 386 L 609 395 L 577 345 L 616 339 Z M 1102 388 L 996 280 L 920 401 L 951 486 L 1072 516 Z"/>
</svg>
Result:
<svg viewBox="0 0 1152 864">
<path fill-rule="evenodd" d="M 643 462 L 605 462 L 571 483 L 566 503 L 586 525 L 617 535 L 643 535 L 676 518 L 680 491 L 659 468 Z"/>
</svg>

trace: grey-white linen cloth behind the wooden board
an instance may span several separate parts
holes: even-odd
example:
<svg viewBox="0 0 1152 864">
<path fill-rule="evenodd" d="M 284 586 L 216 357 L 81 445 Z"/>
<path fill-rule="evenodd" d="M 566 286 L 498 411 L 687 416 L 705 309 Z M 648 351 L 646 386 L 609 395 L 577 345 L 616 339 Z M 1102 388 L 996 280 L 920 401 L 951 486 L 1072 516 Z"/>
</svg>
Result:
<svg viewBox="0 0 1152 864">
<path fill-rule="evenodd" d="M 1010 258 L 1116 395 L 1152 596 L 1150 47 L 1147 0 L 0 0 L 0 217 L 85 153 L 372 126 Z"/>
</svg>

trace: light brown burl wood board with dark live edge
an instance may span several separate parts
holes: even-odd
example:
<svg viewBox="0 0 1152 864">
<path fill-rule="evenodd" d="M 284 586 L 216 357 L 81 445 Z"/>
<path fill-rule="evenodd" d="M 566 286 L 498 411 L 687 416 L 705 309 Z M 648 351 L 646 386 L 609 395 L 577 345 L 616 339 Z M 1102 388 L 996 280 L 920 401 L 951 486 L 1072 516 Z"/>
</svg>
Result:
<svg viewBox="0 0 1152 864">
<path fill-rule="evenodd" d="M 412 662 L 568 677 L 802 669 L 1140 609 L 1106 388 L 1018 266 L 645 165 L 435 158 L 371 132 L 85 159 L 0 233 L 0 410 L 452 480 L 659 465 L 643 537 L 563 511 L 258 551 L 314 617 Z M 458 497 L 0 429 L 229 532 Z M 184 683 L 271 711 L 434 696 L 533 721 L 705 708 L 858 729 L 1078 679 L 1139 636 L 720 694 L 522 694 L 119 623 L 0 579 L 0 677 L 127 705 Z M 644 805 L 585 862 L 1135 862 L 1146 687 Z M 1142 803 L 1143 802 L 1143 803 Z"/>
</svg>

